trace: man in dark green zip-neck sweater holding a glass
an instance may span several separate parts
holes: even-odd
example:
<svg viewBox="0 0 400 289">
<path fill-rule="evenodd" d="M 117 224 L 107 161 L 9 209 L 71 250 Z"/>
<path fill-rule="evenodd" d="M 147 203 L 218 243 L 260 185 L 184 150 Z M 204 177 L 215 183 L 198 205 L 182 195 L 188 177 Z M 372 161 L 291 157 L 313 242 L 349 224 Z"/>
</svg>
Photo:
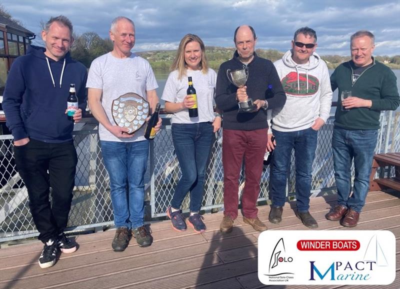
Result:
<svg viewBox="0 0 400 289">
<path fill-rule="evenodd" d="M 373 154 L 377 142 L 381 110 L 395 110 L 400 99 L 396 76 L 372 57 L 374 36 L 361 30 L 350 37 L 351 60 L 337 66 L 330 76 L 332 91 L 339 89 L 332 149 L 338 205 L 326 214 L 346 227 L 357 225 L 369 187 Z M 340 100 L 343 90 L 350 97 Z M 354 187 L 351 194 L 351 160 Z"/>
</svg>

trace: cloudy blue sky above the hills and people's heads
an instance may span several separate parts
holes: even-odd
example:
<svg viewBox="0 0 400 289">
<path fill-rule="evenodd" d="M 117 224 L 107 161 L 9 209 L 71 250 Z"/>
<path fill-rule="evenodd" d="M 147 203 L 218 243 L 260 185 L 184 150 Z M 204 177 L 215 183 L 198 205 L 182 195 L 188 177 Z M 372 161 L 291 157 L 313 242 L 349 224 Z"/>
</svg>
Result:
<svg viewBox="0 0 400 289">
<path fill-rule="evenodd" d="M 400 54 L 400 0 L 1 0 L 24 26 L 39 35 L 40 21 L 64 14 L 78 34 L 107 37 L 119 15 L 135 22 L 133 50 L 176 49 L 186 33 L 205 45 L 233 47 L 236 26 L 249 24 L 257 48 L 286 51 L 294 31 L 317 32 L 321 55 L 349 55 L 350 35 L 360 29 L 375 34 L 375 55 Z"/>
</svg>

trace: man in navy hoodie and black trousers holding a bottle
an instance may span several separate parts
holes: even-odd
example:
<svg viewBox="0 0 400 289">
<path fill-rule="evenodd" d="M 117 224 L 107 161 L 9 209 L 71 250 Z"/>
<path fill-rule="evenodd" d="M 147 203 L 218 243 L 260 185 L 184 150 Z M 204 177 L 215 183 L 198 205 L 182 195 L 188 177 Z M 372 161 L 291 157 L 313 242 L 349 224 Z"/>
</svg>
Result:
<svg viewBox="0 0 400 289">
<path fill-rule="evenodd" d="M 41 37 L 45 47 L 30 45 L 8 73 L 2 107 L 14 137 L 15 164 L 25 183 L 33 222 L 44 243 L 41 268 L 55 263 L 58 249 L 70 253 L 76 244 L 63 233 L 72 200 L 77 156 L 73 121 L 86 106 L 86 68 L 72 60 L 72 24 L 65 16 L 51 17 Z M 67 119 L 69 84 L 74 83 L 79 109 Z M 52 188 L 52 206 L 49 187 Z"/>
</svg>

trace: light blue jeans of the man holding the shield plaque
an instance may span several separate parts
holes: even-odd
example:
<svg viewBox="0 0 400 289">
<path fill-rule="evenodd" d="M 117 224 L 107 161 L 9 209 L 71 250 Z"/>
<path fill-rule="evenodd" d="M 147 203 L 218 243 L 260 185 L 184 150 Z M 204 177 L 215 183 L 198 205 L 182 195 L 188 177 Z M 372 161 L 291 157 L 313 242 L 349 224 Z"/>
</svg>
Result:
<svg viewBox="0 0 400 289">
<path fill-rule="evenodd" d="M 144 172 L 147 167 L 148 140 L 100 140 L 100 144 L 109 174 L 115 226 L 128 229 L 140 227 L 144 216 Z"/>
</svg>

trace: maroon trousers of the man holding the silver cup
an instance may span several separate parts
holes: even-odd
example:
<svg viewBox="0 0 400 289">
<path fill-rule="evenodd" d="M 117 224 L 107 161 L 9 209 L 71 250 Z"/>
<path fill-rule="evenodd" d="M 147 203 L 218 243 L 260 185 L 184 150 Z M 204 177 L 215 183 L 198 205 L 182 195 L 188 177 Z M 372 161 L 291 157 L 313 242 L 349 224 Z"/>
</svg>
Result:
<svg viewBox="0 0 400 289">
<path fill-rule="evenodd" d="M 243 215 L 256 218 L 255 207 L 267 142 L 267 128 L 256 130 L 224 129 L 222 137 L 224 215 L 237 217 L 238 186 L 244 157 L 245 183 L 241 197 Z"/>
</svg>

